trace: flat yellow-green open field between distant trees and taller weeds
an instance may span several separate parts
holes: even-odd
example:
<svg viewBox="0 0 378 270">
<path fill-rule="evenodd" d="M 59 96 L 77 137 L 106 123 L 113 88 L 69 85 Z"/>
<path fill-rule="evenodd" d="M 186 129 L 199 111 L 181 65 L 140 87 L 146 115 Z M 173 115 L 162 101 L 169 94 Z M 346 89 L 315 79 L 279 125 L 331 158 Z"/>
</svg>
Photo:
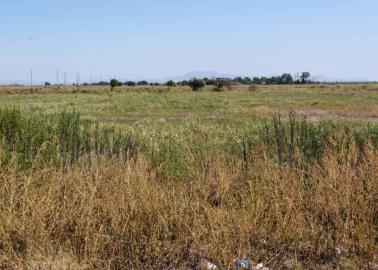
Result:
<svg viewBox="0 0 378 270">
<path fill-rule="evenodd" d="M 235 87 L 192 92 L 186 87 L 0 87 L 0 107 L 82 115 L 120 124 L 158 120 L 180 122 L 200 118 L 215 122 L 244 121 L 291 110 L 309 120 L 378 119 L 378 85 L 306 85 Z"/>
</svg>

